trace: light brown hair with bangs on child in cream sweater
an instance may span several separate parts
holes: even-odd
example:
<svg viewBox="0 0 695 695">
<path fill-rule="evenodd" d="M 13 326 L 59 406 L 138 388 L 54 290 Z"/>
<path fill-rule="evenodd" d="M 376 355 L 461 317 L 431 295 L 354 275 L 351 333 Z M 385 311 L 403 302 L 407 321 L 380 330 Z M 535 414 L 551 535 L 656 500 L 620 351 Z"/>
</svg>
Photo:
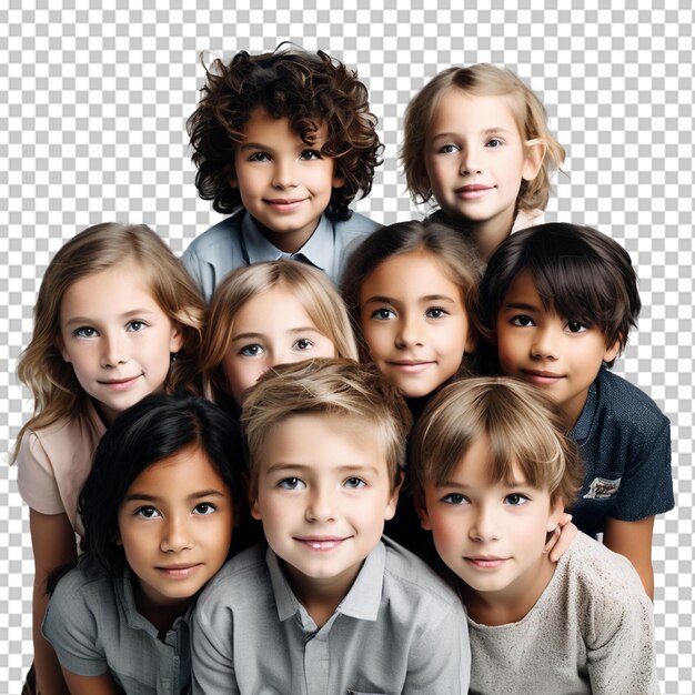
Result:
<svg viewBox="0 0 695 695">
<path fill-rule="evenodd" d="M 547 488 L 553 504 L 576 498 L 584 466 L 561 411 L 536 387 L 508 376 L 463 379 L 427 404 L 411 443 L 416 490 L 451 480 L 481 437 L 490 443 L 492 483 L 512 481 L 518 466 L 530 485 Z"/>
</svg>

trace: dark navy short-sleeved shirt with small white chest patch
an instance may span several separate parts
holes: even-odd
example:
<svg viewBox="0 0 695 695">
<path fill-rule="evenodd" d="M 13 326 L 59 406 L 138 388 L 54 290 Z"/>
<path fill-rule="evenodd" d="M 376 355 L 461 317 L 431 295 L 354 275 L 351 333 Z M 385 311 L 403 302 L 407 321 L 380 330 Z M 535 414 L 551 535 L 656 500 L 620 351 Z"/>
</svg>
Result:
<svg viewBox="0 0 695 695">
<path fill-rule="evenodd" d="M 571 435 L 586 465 L 567 510 L 580 531 L 595 536 L 606 516 L 638 521 L 674 507 L 671 423 L 628 381 L 602 367 Z"/>
</svg>

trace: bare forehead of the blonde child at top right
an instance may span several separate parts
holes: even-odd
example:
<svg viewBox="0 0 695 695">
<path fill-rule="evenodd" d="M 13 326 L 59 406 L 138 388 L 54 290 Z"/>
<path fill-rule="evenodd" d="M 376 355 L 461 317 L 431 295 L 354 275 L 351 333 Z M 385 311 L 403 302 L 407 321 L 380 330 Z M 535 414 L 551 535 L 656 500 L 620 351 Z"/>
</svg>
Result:
<svg viewBox="0 0 695 695">
<path fill-rule="evenodd" d="M 445 91 L 432 114 L 431 137 L 462 129 L 486 131 L 503 128 L 521 132 L 517 99 L 513 94 L 474 94 L 459 88 Z"/>
</svg>

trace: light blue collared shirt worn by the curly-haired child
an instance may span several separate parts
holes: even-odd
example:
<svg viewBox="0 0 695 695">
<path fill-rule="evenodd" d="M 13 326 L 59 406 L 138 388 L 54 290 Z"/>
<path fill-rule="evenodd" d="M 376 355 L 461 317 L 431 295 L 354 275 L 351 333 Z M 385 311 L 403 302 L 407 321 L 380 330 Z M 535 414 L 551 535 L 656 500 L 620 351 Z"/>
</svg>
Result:
<svg viewBox="0 0 695 695">
<path fill-rule="evenodd" d="M 340 222 L 321 215 L 306 243 L 296 253 L 285 253 L 263 236 L 255 220 L 242 209 L 194 239 L 181 260 L 207 302 L 228 273 L 260 261 L 293 259 L 319 268 L 338 283 L 350 251 L 379 226 L 356 212 Z"/>
</svg>

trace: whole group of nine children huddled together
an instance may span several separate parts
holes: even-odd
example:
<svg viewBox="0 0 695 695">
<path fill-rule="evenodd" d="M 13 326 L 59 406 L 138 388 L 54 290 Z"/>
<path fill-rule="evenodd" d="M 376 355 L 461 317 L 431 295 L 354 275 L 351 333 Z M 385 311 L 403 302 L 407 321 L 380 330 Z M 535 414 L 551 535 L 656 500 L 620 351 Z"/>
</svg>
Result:
<svg viewBox="0 0 695 695">
<path fill-rule="evenodd" d="M 120 224 L 56 254 L 18 364 L 27 693 L 657 692 L 629 256 L 543 224 L 564 151 L 513 73 L 409 104 L 425 221 L 350 211 L 375 125 L 321 51 L 215 61 L 189 131 L 231 216 L 182 261 Z"/>
</svg>

